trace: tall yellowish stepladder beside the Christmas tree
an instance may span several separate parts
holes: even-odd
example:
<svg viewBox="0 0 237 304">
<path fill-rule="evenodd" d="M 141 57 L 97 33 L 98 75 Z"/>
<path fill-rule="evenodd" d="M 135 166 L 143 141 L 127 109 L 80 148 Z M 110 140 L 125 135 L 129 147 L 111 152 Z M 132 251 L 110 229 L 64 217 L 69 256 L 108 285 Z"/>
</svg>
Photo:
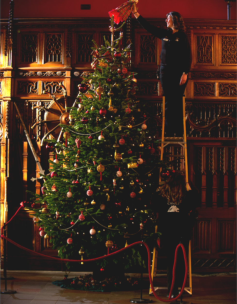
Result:
<svg viewBox="0 0 237 304">
<path fill-rule="evenodd" d="M 165 123 L 165 97 L 163 96 L 162 103 L 162 136 L 161 136 L 161 161 L 164 158 L 169 158 L 172 163 L 172 169 L 175 172 L 185 173 L 187 190 L 190 190 L 188 184 L 188 157 L 187 157 L 187 141 L 186 141 L 186 117 L 185 117 L 185 96 L 183 96 L 183 122 L 184 122 L 184 137 L 164 137 L 164 123 Z M 160 169 L 161 173 L 162 168 Z M 162 177 L 160 174 L 159 184 L 162 185 Z M 157 226 L 155 227 L 155 232 L 157 232 Z M 156 267 L 157 267 L 157 250 L 154 247 L 153 250 L 153 259 L 152 259 L 152 268 L 151 268 L 151 277 L 156 276 Z M 189 242 L 188 248 L 188 279 L 189 286 L 185 287 L 185 290 L 191 295 L 192 294 L 192 276 L 191 276 L 191 244 Z M 167 287 L 154 287 L 157 289 L 167 289 Z M 152 294 L 151 286 L 150 292 Z"/>
</svg>

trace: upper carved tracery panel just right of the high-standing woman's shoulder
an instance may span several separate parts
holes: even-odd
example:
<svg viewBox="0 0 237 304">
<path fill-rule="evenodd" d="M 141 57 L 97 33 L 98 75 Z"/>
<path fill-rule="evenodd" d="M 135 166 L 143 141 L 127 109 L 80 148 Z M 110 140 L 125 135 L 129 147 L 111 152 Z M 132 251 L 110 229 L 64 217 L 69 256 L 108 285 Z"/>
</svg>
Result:
<svg viewBox="0 0 237 304">
<path fill-rule="evenodd" d="M 196 63 L 213 64 L 213 36 L 196 36 Z"/>
</svg>

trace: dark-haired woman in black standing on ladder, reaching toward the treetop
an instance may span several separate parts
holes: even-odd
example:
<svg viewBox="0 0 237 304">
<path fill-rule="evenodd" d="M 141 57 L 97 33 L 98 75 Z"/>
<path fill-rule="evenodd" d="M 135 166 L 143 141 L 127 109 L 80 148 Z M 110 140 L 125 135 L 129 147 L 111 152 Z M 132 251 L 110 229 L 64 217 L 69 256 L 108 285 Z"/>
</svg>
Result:
<svg viewBox="0 0 237 304">
<path fill-rule="evenodd" d="M 161 29 L 147 22 L 135 5 L 132 12 L 144 29 L 162 40 L 160 80 L 165 96 L 165 136 L 183 137 L 183 95 L 192 63 L 184 20 L 180 13 L 170 12 L 165 20 L 168 29 Z"/>
</svg>

